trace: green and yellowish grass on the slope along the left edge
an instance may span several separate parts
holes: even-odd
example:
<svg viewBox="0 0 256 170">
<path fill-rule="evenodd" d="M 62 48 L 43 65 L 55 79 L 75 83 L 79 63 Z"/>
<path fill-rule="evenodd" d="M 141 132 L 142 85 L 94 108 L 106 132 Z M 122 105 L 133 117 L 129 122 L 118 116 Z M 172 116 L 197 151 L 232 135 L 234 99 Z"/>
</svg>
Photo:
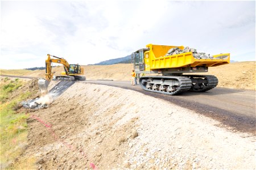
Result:
<svg viewBox="0 0 256 170">
<path fill-rule="evenodd" d="M 27 147 L 28 114 L 18 112 L 20 101 L 31 96 L 31 92 L 17 92 L 26 83 L 22 80 L 1 79 L 1 169 L 34 169 L 34 160 L 20 164 L 19 155 Z"/>
</svg>

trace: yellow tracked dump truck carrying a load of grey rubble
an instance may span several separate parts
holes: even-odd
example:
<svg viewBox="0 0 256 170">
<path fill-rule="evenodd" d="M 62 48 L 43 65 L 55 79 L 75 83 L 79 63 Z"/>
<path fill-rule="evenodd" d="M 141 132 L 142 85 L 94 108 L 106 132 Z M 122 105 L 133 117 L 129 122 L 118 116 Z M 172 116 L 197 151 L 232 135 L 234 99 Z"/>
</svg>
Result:
<svg viewBox="0 0 256 170">
<path fill-rule="evenodd" d="M 205 73 L 208 72 L 208 67 L 230 62 L 229 53 L 209 56 L 184 46 L 148 44 L 146 47 L 131 54 L 134 70 L 143 90 L 160 94 L 208 91 L 217 86 L 216 76 L 188 73 Z M 155 76 L 140 76 L 141 74 Z"/>
</svg>

